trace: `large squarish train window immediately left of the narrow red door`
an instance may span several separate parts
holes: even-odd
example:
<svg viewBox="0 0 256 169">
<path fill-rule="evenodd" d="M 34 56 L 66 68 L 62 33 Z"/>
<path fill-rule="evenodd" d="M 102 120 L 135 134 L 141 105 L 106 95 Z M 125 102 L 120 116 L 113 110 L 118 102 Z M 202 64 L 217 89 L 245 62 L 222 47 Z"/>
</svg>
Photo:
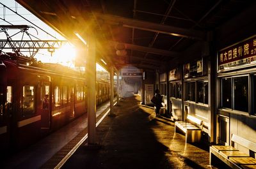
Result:
<svg viewBox="0 0 256 169">
<path fill-rule="evenodd" d="M 24 85 L 22 96 L 23 96 L 23 104 L 22 104 L 23 115 L 34 114 L 35 113 L 34 86 Z"/>
</svg>

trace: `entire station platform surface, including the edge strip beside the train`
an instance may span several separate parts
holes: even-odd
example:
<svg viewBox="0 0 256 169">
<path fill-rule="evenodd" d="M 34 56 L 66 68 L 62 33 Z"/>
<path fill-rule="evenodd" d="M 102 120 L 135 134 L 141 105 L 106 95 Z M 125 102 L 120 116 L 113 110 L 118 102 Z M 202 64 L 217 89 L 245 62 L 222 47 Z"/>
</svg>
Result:
<svg viewBox="0 0 256 169">
<path fill-rule="evenodd" d="M 171 119 L 156 117 L 153 107 L 140 105 L 138 94 L 127 96 L 114 107 L 115 117 L 106 115 L 109 102 L 97 107 L 96 145 L 85 139 L 72 149 L 70 142 L 86 135 L 83 115 L 6 159 L 1 168 L 214 168 L 209 166 L 209 147 L 186 143 L 184 135 L 174 132 Z"/>
</svg>

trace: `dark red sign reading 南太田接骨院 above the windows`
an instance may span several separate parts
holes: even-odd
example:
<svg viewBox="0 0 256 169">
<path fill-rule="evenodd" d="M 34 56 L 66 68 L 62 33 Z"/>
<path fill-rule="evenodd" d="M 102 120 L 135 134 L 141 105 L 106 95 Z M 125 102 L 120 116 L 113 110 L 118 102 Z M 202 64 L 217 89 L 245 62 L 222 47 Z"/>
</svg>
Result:
<svg viewBox="0 0 256 169">
<path fill-rule="evenodd" d="M 218 71 L 234 70 L 256 63 L 256 36 L 218 52 Z"/>
</svg>

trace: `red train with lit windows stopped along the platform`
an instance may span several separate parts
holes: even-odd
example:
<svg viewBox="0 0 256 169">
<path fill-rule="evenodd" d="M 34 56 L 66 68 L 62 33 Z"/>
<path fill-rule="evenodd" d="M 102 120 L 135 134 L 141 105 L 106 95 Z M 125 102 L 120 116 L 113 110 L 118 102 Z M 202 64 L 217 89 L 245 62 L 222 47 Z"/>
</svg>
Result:
<svg viewBox="0 0 256 169">
<path fill-rule="evenodd" d="M 17 151 L 87 112 L 85 73 L 60 64 L 0 54 L 0 150 Z M 97 80 L 96 103 L 109 100 Z"/>
</svg>

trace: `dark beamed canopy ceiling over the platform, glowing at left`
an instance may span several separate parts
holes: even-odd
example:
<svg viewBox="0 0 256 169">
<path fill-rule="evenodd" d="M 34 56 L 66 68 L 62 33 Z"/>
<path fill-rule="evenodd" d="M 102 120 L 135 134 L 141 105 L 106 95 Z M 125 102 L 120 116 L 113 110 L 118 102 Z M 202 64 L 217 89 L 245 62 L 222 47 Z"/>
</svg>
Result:
<svg viewBox="0 0 256 169">
<path fill-rule="evenodd" d="M 121 68 L 156 70 L 180 57 L 207 31 L 221 26 L 252 0 L 16 0 L 70 41 L 92 34 L 100 57 Z M 123 44 L 125 56 L 116 55 Z M 100 58 L 99 57 L 99 58 Z"/>
</svg>

